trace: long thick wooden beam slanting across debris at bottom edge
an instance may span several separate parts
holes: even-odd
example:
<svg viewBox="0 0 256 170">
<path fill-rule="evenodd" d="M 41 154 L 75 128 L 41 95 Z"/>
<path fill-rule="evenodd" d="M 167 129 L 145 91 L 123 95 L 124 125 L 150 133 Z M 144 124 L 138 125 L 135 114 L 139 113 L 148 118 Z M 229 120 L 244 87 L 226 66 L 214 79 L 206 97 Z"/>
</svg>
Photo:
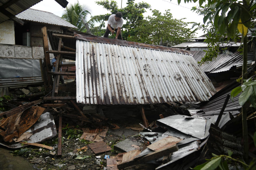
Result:
<svg viewBox="0 0 256 170">
<path fill-rule="evenodd" d="M 151 152 L 150 154 L 144 155 L 144 156 L 135 156 L 134 159 L 130 161 L 123 162 L 121 164 L 118 164 L 117 167 L 118 169 L 125 169 L 126 167 L 130 167 L 133 165 L 138 165 L 141 163 L 146 163 L 148 161 L 158 159 L 163 155 L 170 154 L 172 152 L 175 152 L 178 150 L 178 146 L 175 144 L 173 146 L 169 146 L 167 148 L 162 148 L 161 150 Z"/>
</svg>

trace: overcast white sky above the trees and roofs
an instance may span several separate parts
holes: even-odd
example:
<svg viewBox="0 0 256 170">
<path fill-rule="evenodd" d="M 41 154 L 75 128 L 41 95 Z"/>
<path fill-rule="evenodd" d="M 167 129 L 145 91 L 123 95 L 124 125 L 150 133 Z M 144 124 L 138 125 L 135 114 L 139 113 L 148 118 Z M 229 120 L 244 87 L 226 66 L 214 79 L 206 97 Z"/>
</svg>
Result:
<svg viewBox="0 0 256 170">
<path fill-rule="evenodd" d="M 69 4 L 74 4 L 77 2 L 77 0 L 67 0 Z M 109 0 L 110 1 L 110 0 Z M 116 0 L 118 7 L 121 8 L 121 0 Z M 127 0 L 122 0 L 122 7 L 126 6 Z M 195 12 L 191 11 L 191 7 L 197 6 L 197 4 L 193 3 L 184 3 L 181 2 L 180 5 L 178 5 L 177 0 L 146 0 L 146 1 L 141 1 L 141 0 L 135 0 L 135 3 L 138 2 L 147 2 L 151 5 L 151 9 L 157 9 L 159 10 L 162 14 L 165 12 L 165 10 L 170 9 L 171 14 L 173 15 L 173 18 L 175 19 L 181 19 L 181 18 L 186 18 L 183 21 L 184 22 L 197 22 L 197 23 L 202 23 L 203 21 L 203 16 L 197 15 Z M 91 9 L 91 15 L 101 15 L 101 14 L 106 14 L 110 13 L 110 11 L 107 11 L 105 8 L 102 6 L 99 6 L 95 3 L 94 0 L 79 0 L 79 3 L 82 5 L 87 5 Z M 68 5 L 69 5 L 68 4 Z M 47 11 L 47 12 L 52 12 L 55 15 L 62 16 L 64 8 L 62 8 L 57 2 L 53 0 L 43 0 L 39 2 L 38 4 L 32 6 L 31 8 L 33 9 L 38 9 L 42 11 Z M 152 16 L 151 11 L 148 9 L 146 10 L 147 12 L 144 13 L 144 17 L 150 15 Z M 192 24 L 190 24 L 191 27 Z M 203 35 L 203 32 L 198 32 L 196 35 L 197 37 Z"/>
</svg>

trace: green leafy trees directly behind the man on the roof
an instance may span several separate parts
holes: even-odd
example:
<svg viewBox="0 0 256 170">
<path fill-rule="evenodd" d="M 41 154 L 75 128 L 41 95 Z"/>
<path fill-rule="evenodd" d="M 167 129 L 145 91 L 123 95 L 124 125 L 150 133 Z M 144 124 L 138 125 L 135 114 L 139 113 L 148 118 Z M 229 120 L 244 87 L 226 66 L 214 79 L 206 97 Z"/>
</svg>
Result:
<svg viewBox="0 0 256 170">
<path fill-rule="evenodd" d="M 99 15 L 101 25 L 98 27 L 99 32 L 96 34 L 103 36 L 106 30 L 105 21 L 109 19 L 111 14 L 122 12 L 123 19 L 126 24 L 122 27 L 123 40 L 155 44 L 155 45 L 176 45 L 190 38 L 189 29 L 185 28 L 188 23 L 182 19 L 173 19 L 170 10 L 161 15 L 158 10 L 153 10 L 153 16 L 148 16 L 144 19 L 143 14 L 146 9 L 150 9 L 150 5 L 145 2 L 134 3 L 134 0 L 128 0 L 127 6 L 120 9 L 115 1 L 97 1 L 98 5 L 110 11 L 105 15 Z M 151 9 L 150 9 L 151 10 Z M 115 35 L 110 35 L 114 38 Z"/>
</svg>

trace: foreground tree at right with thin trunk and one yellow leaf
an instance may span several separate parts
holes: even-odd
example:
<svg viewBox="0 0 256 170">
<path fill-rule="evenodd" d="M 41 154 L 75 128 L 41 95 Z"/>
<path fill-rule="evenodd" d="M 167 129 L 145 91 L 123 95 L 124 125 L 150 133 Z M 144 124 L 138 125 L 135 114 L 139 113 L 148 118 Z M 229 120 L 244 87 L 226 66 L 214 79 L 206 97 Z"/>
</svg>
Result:
<svg viewBox="0 0 256 170">
<path fill-rule="evenodd" d="M 185 0 L 185 2 L 191 2 L 191 0 Z M 193 0 L 197 2 L 198 0 Z M 180 3 L 181 0 L 178 0 Z M 242 35 L 241 42 L 243 43 L 243 69 L 242 69 L 242 88 L 243 93 L 239 97 L 239 103 L 242 105 L 242 124 L 243 124 L 243 140 L 244 140 L 244 159 L 248 160 L 248 132 L 247 132 L 247 122 L 246 122 L 246 106 L 249 101 L 255 103 L 256 91 L 252 91 L 254 87 L 254 82 L 250 83 L 252 79 L 247 79 L 247 31 L 250 26 L 255 24 L 255 8 L 256 1 L 254 0 L 199 0 L 199 6 L 192 8 L 199 15 L 203 15 L 203 24 L 198 25 L 198 29 L 203 29 L 207 34 L 207 39 L 205 40 L 209 44 L 209 50 L 206 53 L 205 58 L 202 62 L 207 60 L 212 60 L 220 48 L 218 42 L 221 39 L 226 40 L 239 39 L 240 34 Z M 239 34 L 240 33 L 240 34 Z M 247 80 L 246 80 L 247 79 Z M 244 81 L 246 83 L 244 83 Z M 239 89 L 234 89 L 233 94 L 235 96 L 239 93 Z M 240 91 L 240 92 L 241 92 Z M 253 99 L 253 100 L 251 100 Z M 242 100 L 243 102 L 241 102 Z M 255 106 L 255 104 L 252 104 Z"/>
</svg>

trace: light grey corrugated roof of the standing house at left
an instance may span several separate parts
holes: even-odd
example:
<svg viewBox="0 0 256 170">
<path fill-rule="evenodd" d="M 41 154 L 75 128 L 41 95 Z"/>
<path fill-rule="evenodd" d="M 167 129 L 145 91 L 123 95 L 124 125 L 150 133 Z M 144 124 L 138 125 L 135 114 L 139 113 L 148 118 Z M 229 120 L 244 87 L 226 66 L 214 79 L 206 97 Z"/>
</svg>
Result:
<svg viewBox="0 0 256 170">
<path fill-rule="evenodd" d="M 31 8 L 21 12 L 20 14 L 16 15 L 16 17 L 26 21 L 58 25 L 58 26 L 69 27 L 69 28 L 77 28 L 75 25 L 70 24 L 66 20 L 62 19 L 57 15 L 54 15 L 51 12 L 40 11 L 40 10 L 31 9 Z"/>
</svg>

